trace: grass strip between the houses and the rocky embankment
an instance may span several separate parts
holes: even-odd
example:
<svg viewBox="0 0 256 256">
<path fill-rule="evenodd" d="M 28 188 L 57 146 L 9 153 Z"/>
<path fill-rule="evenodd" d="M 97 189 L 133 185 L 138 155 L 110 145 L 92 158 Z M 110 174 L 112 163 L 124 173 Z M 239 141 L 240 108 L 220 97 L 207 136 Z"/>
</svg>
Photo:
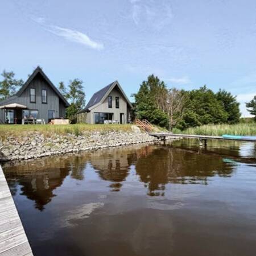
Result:
<svg viewBox="0 0 256 256">
<path fill-rule="evenodd" d="M 84 131 L 131 131 L 131 125 L 0 125 L 0 137 L 6 138 L 8 134 L 20 135 L 30 131 L 39 132 L 44 135 L 75 134 L 79 135 Z"/>
</svg>

